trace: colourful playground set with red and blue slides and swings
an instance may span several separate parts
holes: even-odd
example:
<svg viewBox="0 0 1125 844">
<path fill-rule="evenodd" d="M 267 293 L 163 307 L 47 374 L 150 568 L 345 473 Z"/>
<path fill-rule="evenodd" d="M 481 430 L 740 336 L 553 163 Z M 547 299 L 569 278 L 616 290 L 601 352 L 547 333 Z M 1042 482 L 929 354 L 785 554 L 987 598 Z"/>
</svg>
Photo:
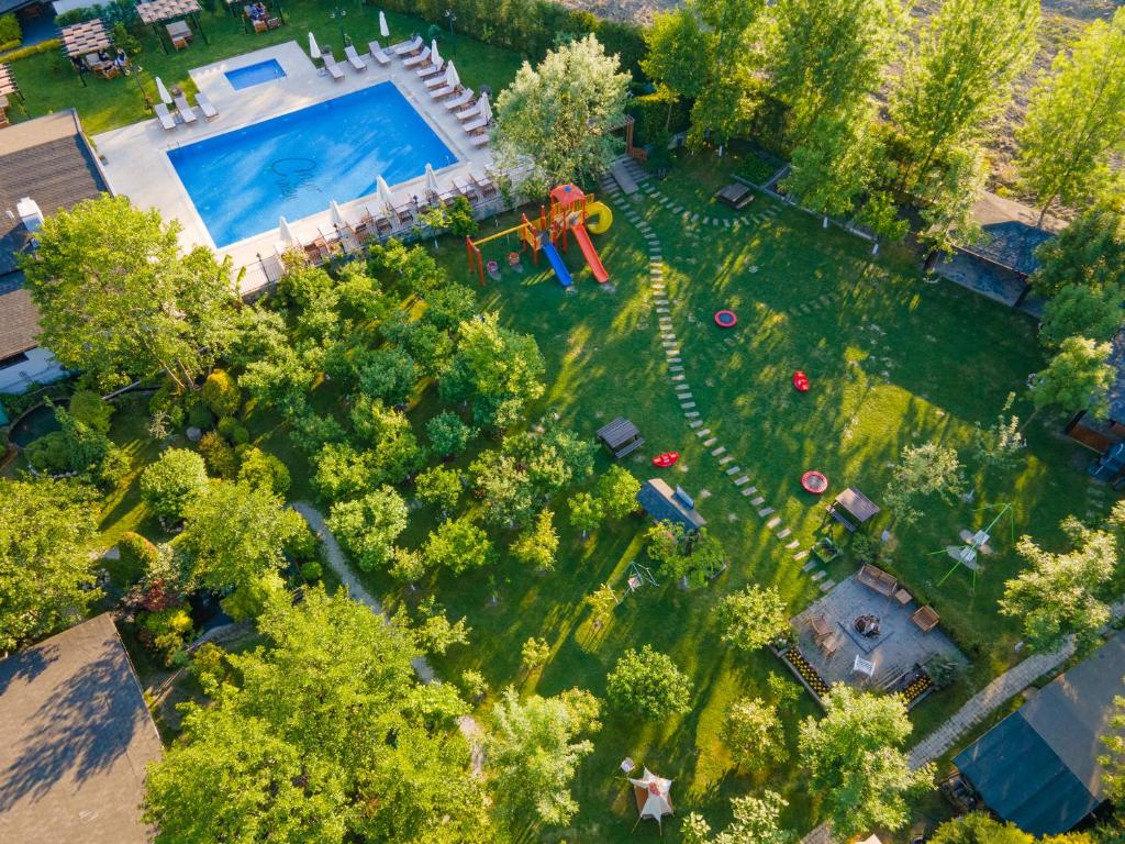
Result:
<svg viewBox="0 0 1125 844">
<path fill-rule="evenodd" d="M 574 287 L 574 279 L 570 270 L 562 262 L 559 254 L 559 244 L 565 252 L 573 239 L 582 250 L 583 258 L 590 266 L 591 272 L 598 284 L 610 280 L 610 273 L 602 264 L 602 259 L 594 249 L 590 240 L 591 232 L 602 234 L 613 224 L 613 213 L 604 203 L 594 200 L 593 194 L 585 194 L 574 185 L 560 185 L 550 192 L 550 208 L 540 206 L 539 219 L 528 219 L 528 215 L 521 216 L 519 225 L 496 232 L 487 237 L 465 239 L 465 248 L 469 258 L 469 272 L 477 275 L 480 284 L 485 282 L 485 260 L 480 253 L 480 246 L 501 237 L 515 236 L 520 248 L 531 252 L 531 261 L 539 264 L 539 252 L 547 255 L 547 261 L 555 272 L 555 277 L 564 289 Z M 488 263 L 495 264 L 489 261 Z M 494 278 L 498 276 L 489 269 L 489 275 Z"/>
</svg>

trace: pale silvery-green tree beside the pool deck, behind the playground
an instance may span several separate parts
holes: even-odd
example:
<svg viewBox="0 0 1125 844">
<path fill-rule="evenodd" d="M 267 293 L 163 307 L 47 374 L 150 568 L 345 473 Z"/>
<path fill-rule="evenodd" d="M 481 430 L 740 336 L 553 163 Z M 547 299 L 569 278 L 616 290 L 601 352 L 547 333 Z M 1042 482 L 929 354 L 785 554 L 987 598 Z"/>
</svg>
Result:
<svg viewBox="0 0 1125 844">
<path fill-rule="evenodd" d="M 624 116 L 630 78 L 593 35 L 526 62 L 496 99 L 497 161 L 531 168 L 529 196 L 554 185 L 582 183 L 620 150 L 613 132 Z"/>
</svg>

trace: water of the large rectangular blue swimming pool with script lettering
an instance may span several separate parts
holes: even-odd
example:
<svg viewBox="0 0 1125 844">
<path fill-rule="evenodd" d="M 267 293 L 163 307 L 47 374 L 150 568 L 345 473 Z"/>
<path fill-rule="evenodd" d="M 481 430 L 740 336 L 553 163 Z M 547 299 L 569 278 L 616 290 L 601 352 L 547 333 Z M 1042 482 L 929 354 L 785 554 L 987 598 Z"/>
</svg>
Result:
<svg viewBox="0 0 1125 844">
<path fill-rule="evenodd" d="M 276 228 L 452 164 L 429 124 L 390 82 L 170 150 L 215 245 Z"/>
</svg>

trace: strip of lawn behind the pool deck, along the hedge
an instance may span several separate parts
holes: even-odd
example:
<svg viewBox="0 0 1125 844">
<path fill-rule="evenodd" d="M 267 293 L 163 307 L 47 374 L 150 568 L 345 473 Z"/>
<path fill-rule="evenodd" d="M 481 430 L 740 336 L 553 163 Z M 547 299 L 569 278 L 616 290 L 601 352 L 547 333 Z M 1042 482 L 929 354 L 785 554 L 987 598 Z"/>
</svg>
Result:
<svg viewBox="0 0 1125 844">
<path fill-rule="evenodd" d="M 27 116 L 36 117 L 50 111 L 74 106 L 88 135 L 97 135 L 107 129 L 125 126 L 152 117 L 145 108 L 138 81 L 151 100 L 156 99 L 153 79 L 160 77 L 169 87 L 178 84 L 194 90 L 188 72 L 192 68 L 216 62 L 227 56 L 261 50 L 270 44 L 296 41 L 302 46 L 308 43 L 308 33 L 314 32 L 322 46 L 331 46 L 336 59 L 342 59 L 341 30 L 349 35 L 360 52 L 367 51 L 367 43 L 379 37 L 378 9 L 357 2 L 341 3 L 345 10 L 343 18 L 333 18 L 330 3 L 316 0 L 287 0 L 284 3 L 286 26 L 268 33 L 243 32 L 242 24 L 225 11 L 225 3 L 217 3 L 215 12 L 200 15 L 204 32 L 210 44 L 196 37 L 187 50 L 173 51 L 165 55 L 151 28 L 141 38 L 143 52 L 134 59 L 142 72 L 130 77 L 104 80 L 88 78 L 82 87 L 70 63 L 61 59 L 57 51 L 20 60 L 11 65 L 20 90 L 27 100 Z M 222 9 L 222 10 L 220 10 Z M 387 12 L 390 42 L 418 32 L 425 35 L 430 25 L 420 18 Z M 441 43 L 442 54 L 457 61 L 457 70 L 467 86 L 492 86 L 498 91 L 515 75 L 520 57 L 507 51 L 482 44 L 462 35 L 452 41 L 447 34 Z M 19 120 L 25 117 L 18 107 L 9 109 L 9 117 Z"/>
</svg>

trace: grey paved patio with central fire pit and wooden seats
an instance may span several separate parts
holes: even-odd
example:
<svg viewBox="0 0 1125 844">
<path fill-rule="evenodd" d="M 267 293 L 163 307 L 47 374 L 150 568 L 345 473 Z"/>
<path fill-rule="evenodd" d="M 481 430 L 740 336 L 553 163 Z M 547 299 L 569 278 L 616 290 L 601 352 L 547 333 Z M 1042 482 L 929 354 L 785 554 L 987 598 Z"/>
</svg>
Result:
<svg viewBox="0 0 1125 844">
<path fill-rule="evenodd" d="M 800 656 L 783 658 L 807 688 L 814 685 L 803 676 L 811 668 L 821 688 L 843 682 L 901 692 L 914 706 L 933 688 L 927 662 L 965 664 L 937 623 L 937 613 L 919 607 L 891 575 L 864 566 L 791 619 Z"/>
</svg>

